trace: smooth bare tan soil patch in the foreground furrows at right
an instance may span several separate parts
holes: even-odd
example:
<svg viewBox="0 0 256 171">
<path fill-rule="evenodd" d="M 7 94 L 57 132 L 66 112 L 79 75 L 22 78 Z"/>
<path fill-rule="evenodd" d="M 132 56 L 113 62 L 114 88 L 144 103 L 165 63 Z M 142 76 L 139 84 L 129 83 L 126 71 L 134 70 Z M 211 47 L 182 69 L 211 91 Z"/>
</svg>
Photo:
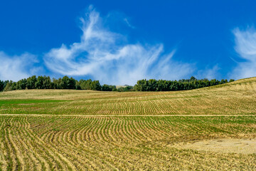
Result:
<svg viewBox="0 0 256 171">
<path fill-rule="evenodd" d="M 243 140 L 234 138 L 222 138 L 214 140 L 203 140 L 198 142 L 182 142 L 171 147 L 178 149 L 205 150 L 223 153 L 256 153 L 256 139 Z"/>
</svg>

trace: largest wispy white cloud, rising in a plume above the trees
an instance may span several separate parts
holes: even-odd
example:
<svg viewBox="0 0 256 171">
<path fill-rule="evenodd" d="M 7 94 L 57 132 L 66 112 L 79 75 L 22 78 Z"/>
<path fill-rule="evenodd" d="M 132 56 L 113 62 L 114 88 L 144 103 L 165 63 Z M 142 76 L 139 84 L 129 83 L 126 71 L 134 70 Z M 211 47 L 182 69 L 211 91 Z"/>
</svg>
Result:
<svg viewBox="0 0 256 171">
<path fill-rule="evenodd" d="M 134 85 L 144 78 L 171 80 L 191 76 L 191 64 L 172 59 L 175 50 L 164 54 L 161 43 L 124 43 L 124 36 L 102 27 L 100 14 L 92 6 L 80 21 L 80 42 L 53 48 L 44 56 L 51 71 L 68 76 L 90 75 L 100 83 L 115 85 Z"/>
</svg>

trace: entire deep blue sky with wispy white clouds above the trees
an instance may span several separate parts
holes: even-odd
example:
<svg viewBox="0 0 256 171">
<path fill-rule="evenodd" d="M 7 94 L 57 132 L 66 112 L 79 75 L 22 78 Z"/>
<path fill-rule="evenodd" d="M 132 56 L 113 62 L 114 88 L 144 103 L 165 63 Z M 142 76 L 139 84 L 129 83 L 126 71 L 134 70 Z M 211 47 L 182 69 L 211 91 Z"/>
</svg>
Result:
<svg viewBox="0 0 256 171">
<path fill-rule="evenodd" d="M 0 80 L 256 76 L 256 1 L 1 1 Z"/>
</svg>

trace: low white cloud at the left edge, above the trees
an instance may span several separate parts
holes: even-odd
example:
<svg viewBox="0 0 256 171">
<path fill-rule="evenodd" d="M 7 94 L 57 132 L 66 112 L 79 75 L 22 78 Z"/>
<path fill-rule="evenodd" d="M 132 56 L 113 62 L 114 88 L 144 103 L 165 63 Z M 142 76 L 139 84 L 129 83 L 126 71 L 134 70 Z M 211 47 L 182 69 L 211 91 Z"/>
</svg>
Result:
<svg viewBox="0 0 256 171">
<path fill-rule="evenodd" d="M 0 80 L 2 81 L 18 81 L 38 72 L 38 67 L 33 67 L 33 64 L 37 63 L 36 56 L 30 53 L 23 53 L 21 56 L 8 56 L 0 51 L 0 61 Z"/>
</svg>

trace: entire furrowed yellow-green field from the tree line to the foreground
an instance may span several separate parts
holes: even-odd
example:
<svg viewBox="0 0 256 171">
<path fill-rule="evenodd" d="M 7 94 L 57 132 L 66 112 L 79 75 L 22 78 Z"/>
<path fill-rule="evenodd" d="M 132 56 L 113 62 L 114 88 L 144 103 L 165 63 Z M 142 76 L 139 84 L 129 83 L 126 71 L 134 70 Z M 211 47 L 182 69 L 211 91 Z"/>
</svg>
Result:
<svg viewBox="0 0 256 171">
<path fill-rule="evenodd" d="M 0 170 L 256 170 L 256 78 L 177 92 L 0 93 Z"/>
</svg>

